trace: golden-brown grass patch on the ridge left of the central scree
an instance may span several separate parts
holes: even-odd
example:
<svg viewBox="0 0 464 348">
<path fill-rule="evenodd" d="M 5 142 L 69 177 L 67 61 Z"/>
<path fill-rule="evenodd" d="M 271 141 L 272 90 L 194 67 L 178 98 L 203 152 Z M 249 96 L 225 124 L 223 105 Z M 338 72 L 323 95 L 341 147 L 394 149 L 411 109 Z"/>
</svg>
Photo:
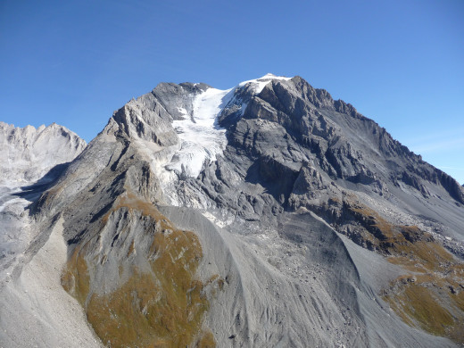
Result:
<svg viewBox="0 0 464 348">
<path fill-rule="evenodd" d="M 128 208 L 150 216 L 156 228 L 153 236 L 149 272 L 131 269 L 131 277 L 111 294 L 88 294 L 87 263 L 76 248 L 62 274 L 66 291 L 79 299 L 87 319 L 102 342 L 112 347 L 215 347 L 210 331 L 202 330 L 203 316 L 209 308 L 205 286 L 222 288 L 219 275 L 203 284 L 195 278 L 203 257 L 198 237 L 175 228 L 156 207 L 137 196 L 120 196 L 103 218 Z M 128 255 L 135 253 L 135 244 Z M 86 304 L 87 299 L 87 304 Z"/>
</svg>

